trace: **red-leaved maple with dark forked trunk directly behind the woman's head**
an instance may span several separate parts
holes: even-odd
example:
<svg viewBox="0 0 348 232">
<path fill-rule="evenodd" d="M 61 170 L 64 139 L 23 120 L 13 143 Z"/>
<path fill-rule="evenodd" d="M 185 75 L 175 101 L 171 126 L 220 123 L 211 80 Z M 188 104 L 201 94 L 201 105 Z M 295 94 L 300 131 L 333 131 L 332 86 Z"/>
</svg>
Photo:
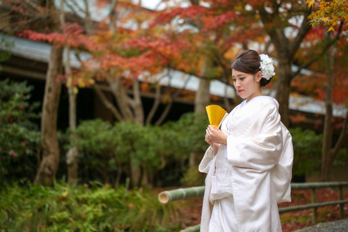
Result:
<svg viewBox="0 0 348 232">
<path fill-rule="evenodd" d="M 312 29 L 308 15 L 312 12 L 305 1 L 199 1 L 185 8 L 168 8 L 161 12 L 155 24 L 178 22 L 180 28 L 200 25 L 191 33 L 191 46 L 205 50 L 216 67 L 210 69 L 210 78 L 228 83 L 230 63 L 241 49 L 256 49 L 269 53 L 278 63 L 274 80 L 275 97 L 280 103 L 280 115 L 289 126 L 289 97 L 294 76 L 322 56 L 320 49 L 310 59 L 299 59 L 299 48 L 308 42 L 306 35 Z M 188 30 L 181 30 L 182 37 Z M 185 33 L 184 33 L 185 32 Z M 310 43 L 316 47 L 317 43 Z M 313 48 L 312 47 L 312 48 Z M 301 60 L 303 63 L 299 63 Z M 294 69 L 294 67 L 297 67 Z M 173 67 L 178 68 L 178 67 Z M 197 70 L 190 70 L 204 78 Z"/>
</svg>

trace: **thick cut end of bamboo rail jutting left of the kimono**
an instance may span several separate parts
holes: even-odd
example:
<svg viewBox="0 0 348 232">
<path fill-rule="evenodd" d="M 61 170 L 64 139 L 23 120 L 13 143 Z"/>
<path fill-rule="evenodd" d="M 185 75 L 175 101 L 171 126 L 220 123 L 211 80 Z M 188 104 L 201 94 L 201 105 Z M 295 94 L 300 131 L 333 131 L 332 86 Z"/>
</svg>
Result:
<svg viewBox="0 0 348 232">
<path fill-rule="evenodd" d="M 159 202 L 166 204 L 171 201 L 177 201 L 180 199 L 187 199 L 191 197 L 202 197 L 204 195 L 205 186 L 191 187 L 191 188 L 179 188 L 177 190 L 170 190 L 160 192 L 158 194 Z"/>
</svg>

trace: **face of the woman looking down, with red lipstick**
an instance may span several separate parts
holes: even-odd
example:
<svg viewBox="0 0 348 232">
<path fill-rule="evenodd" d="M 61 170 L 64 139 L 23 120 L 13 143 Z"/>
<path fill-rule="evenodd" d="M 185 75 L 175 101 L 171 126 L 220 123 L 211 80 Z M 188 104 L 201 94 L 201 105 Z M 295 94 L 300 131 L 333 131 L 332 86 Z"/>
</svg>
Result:
<svg viewBox="0 0 348 232">
<path fill-rule="evenodd" d="M 232 79 L 235 89 L 239 93 L 239 96 L 249 101 L 253 97 L 261 96 L 260 80 L 262 73 L 246 74 L 232 69 Z"/>
</svg>

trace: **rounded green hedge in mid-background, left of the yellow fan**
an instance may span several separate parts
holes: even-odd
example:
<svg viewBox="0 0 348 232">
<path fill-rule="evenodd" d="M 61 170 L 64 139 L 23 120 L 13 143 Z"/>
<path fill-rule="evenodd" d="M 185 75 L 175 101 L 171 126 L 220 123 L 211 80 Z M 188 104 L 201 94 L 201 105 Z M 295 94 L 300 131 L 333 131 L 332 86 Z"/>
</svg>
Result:
<svg viewBox="0 0 348 232">
<path fill-rule="evenodd" d="M 205 151 L 206 126 L 207 117 L 193 113 L 182 115 L 177 122 L 167 122 L 162 126 L 141 126 L 132 122 L 111 125 L 95 119 L 77 126 L 77 140 L 70 146 L 79 147 L 80 166 L 93 170 L 89 172 L 91 179 L 118 185 L 116 174 L 129 176 L 132 160 L 133 165 L 142 167 L 150 185 L 155 185 L 155 181 L 160 179 L 161 169 L 171 169 L 173 163 L 185 163 L 191 152 L 202 154 Z M 178 183 L 180 178 L 174 178 Z"/>
</svg>

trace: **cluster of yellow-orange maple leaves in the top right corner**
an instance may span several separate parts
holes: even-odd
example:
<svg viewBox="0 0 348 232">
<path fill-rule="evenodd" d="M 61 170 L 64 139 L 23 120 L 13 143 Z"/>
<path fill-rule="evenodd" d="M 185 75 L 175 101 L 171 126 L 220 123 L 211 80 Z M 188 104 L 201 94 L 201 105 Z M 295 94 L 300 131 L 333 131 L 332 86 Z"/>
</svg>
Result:
<svg viewBox="0 0 348 232">
<path fill-rule="evenodd" d="M 329 26 L 328 31 L 335 31 L 334 27 L 339 22 L 348 24 L 348 1 L 347 0 L 307 0 L 308 8 L 315 8 L 315 11 L 308 17 L 310 24 L 317 26 L 324 24 Z"/>
</svg>

